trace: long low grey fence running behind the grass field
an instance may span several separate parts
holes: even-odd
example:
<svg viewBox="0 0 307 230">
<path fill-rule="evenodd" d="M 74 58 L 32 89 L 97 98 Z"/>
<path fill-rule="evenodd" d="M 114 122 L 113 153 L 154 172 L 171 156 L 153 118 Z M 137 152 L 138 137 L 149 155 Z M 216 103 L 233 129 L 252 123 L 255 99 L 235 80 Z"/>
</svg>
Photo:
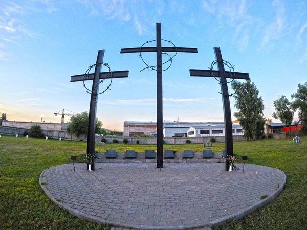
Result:
<svg viewBox="0 0 307 230">
<path fill-rule="evenodd" d="M 29 129 L 24 128 L 15 128 L 15 127 L 7 127 L 0 125 L 0 135 L 16 135 L 19 136 L 24 135 L 24 132 L 28 131 Z M 52 139 L 61 139 L 63 140 L 84 140 L 87 141 L 87 136 L 80 135 L 77 137 L 76 135 L 65 132 L 65 131 L 54 131 L 54 130 L 42 130 L 43 135 L 48 136 L 48 138 Z M 286 137 L 286 133 L 272 133 L 273 139 L 280 139 Z M 135 144 L 139 141 L 140 144 L 157 144 L 156 137 L 124 137 L 124 136 L 95 136 L 95 142 L 101 142 L 101 138 L 104 137 L 107 143 L 112 143 L 113 139 L 117 139 L 118 143 L 123 143 L 124 139 L 128 140 L 128 143 Z M 225 142 L 225 136 L 214 136 L 216 142 Z M 190 140 L 191 143 L 206 143 L 210 142 L 211 137 L 164 137 L 165 144 L 185 144 L 186 140 Z M 233 136 L 233 141 L 245 141 L 246 139 L 241 136 Z"/>
</svg>

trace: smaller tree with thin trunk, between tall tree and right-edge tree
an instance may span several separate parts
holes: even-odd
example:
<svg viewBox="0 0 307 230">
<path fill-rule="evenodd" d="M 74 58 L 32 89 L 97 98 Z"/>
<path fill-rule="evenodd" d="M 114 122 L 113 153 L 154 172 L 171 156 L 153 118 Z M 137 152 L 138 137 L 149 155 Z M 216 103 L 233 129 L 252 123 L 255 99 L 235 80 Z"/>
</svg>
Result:
<svg viewBox="0 0 307 230">
<path fill-rule="evenodd" d="M 281 98 L 273 101 L 275 111 L 273 112 L 273 117 L 279 119 L 284 125 L 289 126 L 289 136 L 291 136 L 291 123 L 294 116 L 294 111 L 292 110 L 291 102 L 282 95 Z"/>
</svg>

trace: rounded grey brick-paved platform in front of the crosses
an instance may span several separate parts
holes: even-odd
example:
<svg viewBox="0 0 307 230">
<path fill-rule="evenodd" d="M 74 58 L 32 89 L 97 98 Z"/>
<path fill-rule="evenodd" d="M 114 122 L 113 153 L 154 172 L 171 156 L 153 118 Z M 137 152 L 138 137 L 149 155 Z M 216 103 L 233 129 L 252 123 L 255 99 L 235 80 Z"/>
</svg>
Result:
<svg viewBox="0 0 307 230">
<path fill-rule="evenodd" d="M 222 163 L 96 163 L 58 165 L 40 185 L 61 208 L 98 223 L 133 229 L 193 229 L 222 225 L 278 196 L 286 175 L 275 168 Z M 262 199 L 261 196 L 267 196 Z"/>
</svg>

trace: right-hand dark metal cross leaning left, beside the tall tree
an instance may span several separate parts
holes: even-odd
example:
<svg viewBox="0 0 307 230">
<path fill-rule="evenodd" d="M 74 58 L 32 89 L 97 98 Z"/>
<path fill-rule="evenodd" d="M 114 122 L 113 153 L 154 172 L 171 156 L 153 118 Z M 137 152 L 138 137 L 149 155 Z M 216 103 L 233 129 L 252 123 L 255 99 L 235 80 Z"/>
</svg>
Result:
<svg viewBox="0 0 307 230">
<path fill-rule="evenodd" d="M 249 80 L 249 74 L 235 72 L 235 76 L 231 76 L 231 72 L 225 71 L 224 62 L 220 47 L 214 47 L 215 58 L 217 61 L 218 71 L 211 70 L 190 70 L 190 76 L 192 77 L 219 77 L 221 84 L 221 94 L 223 99 L 224 109 L 224 123 L 225 123 L 225 149 L 226 157 L 233 156 L 233 141 L 232 141 L 232 125 L 231 125 L 231 111 L 229 94 L 226 78 L 245 79 Z M 214 76 L 213 76 L 213 75 Z M 229 164 L 225 164 L 225 170 L 229 170 Z"/>
</svg>

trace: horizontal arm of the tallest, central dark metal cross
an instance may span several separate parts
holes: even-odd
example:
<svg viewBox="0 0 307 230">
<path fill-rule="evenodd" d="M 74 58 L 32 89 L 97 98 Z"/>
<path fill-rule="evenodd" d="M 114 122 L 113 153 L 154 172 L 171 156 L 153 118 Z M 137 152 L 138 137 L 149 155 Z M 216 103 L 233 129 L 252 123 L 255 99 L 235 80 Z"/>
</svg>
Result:
<svg viewBox="0 0 307 230">
<path fill-rule="evenodd" d="M 121 54 L 140 53 L 141 52 L 157 52 L 157 47 L 133 47 L 120 49 Z M 162 52 L 181 52 L 181 53 L 198 53 L 197 48 L 189 47 L 162 47 Z"/>
</svg>

